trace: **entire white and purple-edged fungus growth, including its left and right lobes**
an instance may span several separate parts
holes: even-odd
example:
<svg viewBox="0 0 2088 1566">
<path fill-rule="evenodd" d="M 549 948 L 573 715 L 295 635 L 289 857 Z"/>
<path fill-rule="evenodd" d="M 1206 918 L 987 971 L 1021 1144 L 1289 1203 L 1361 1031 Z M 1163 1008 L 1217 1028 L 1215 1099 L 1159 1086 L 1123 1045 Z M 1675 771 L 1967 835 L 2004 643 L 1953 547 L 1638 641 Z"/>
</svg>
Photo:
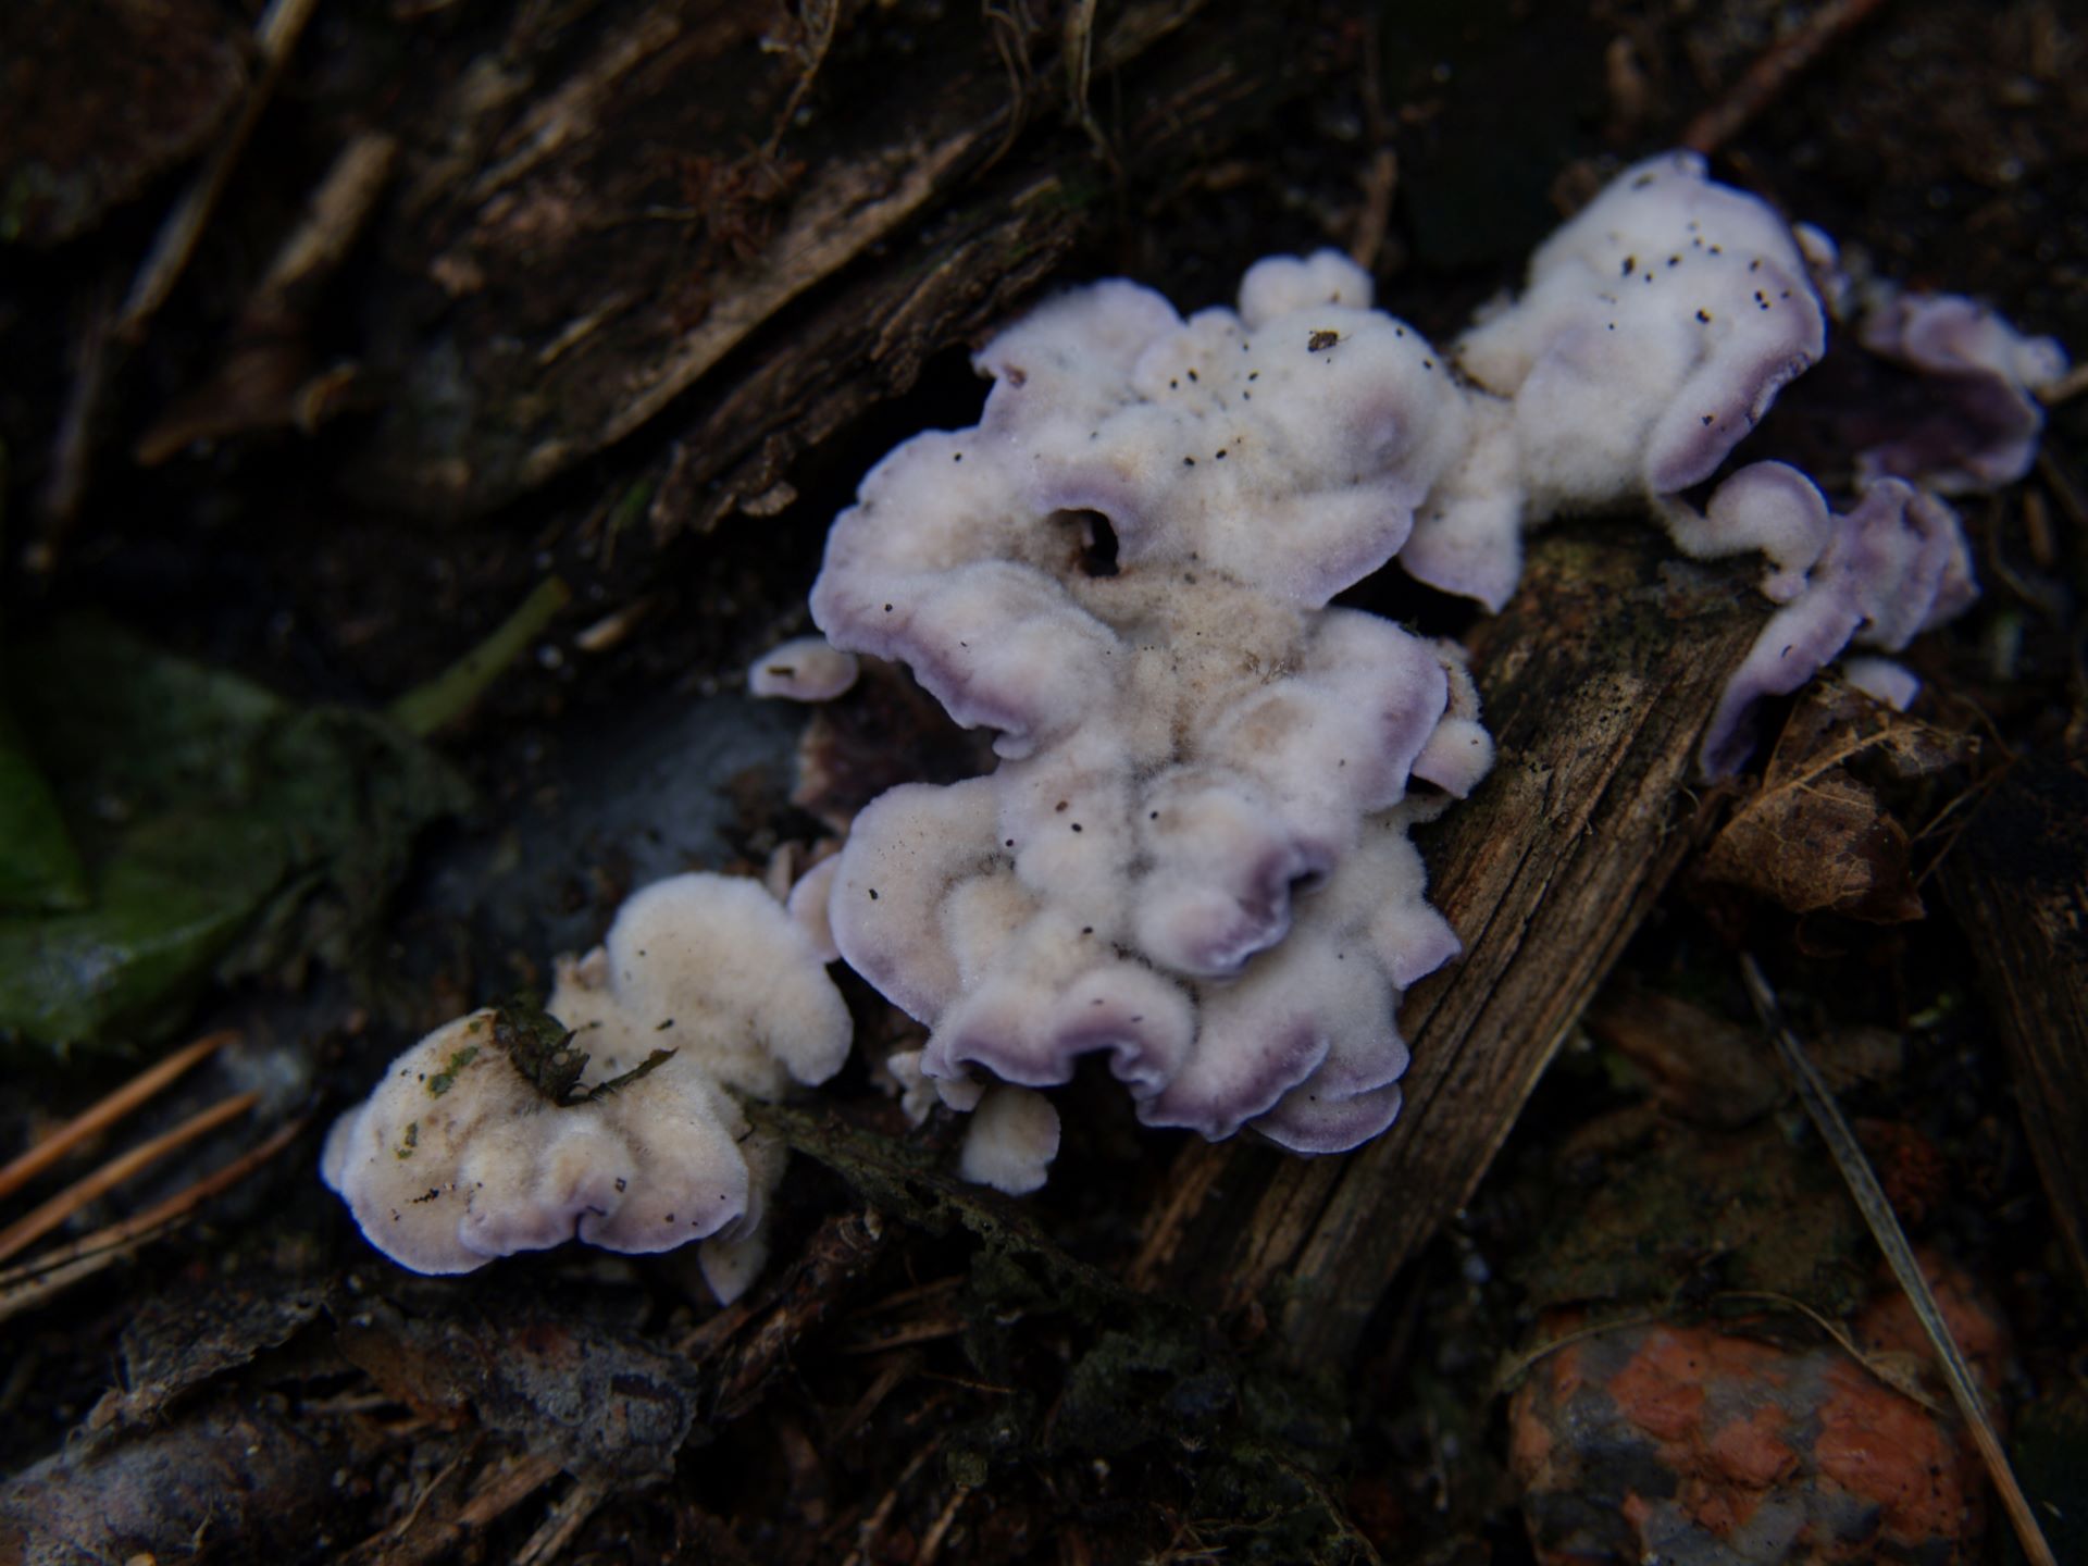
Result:
<svg viewBox="0 0 2088 1566">
<path fill-rule="evenodd" d="M 464 1017 L 340 1119 L 328 1182 L 420 1272 L 706 1240 L 731 1297 L 783 1161 L 735 1094 L 839 1069 L 835 954 L 927 1023 L 889 1069 L 908 1113 L 973 1111 L 983 1184 L 1042 1184 L 1059 1119 L 1034 1090 L 1084 1054 L 1150 1125 L 1301 1153 L 1376 1136 L 1407 1065 L 1399 996 L 1457 952 L 1407 829 L 1493 743 L 1455 647 L 1330 599 L 1399 560 L 1499 608 L 1522 530 L 1566 512 L 1637 505 L 1689 555 L 1758 551 L 1779 610 L 1702 750 L 1735 768 L 1764 695 L 1965 608 L 1938 493 L 2019 476 L 2030 393 L 2065 367 L 1969 301 L 1871 286 L 1856 336 L 1906 374 L 1867 409 L 1852 503 L 1775 461 L 1698 497 L 1823 353 L 1821 288 L 1858 294 L 1825 238 L 1666 155 L 1449 355 L 1332 253 L 1261 261 L 1236 309 L 1188 319 L 1130 282 L 1042 305 L 977 355 L 979 424 L 892 451 L 833 524 L 827 641 L 750 672 L 756 695 L 827 699 L 854 654 L 904 662 L 994 731 L 996 770 L 871 802 L 787 912 L 712 875 L 641 892 L 560 963 L 549 1013 L 585 1069 L 547 1088 L 520 1059 L 541 1040 Z M 1869 660 L 1865 681 L 1904 699 L 1913 677 Z"/>
</svg>

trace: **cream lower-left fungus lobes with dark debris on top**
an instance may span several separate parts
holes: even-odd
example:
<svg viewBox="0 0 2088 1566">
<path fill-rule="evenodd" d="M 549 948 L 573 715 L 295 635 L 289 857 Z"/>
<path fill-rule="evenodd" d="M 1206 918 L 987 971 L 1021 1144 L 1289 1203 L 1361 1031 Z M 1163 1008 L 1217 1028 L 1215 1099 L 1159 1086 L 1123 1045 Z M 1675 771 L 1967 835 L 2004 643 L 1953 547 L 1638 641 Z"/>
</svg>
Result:
<svg viewBox="0 0 2088 1566">
<path fill-rule="evenodd" d="M 777 1098 L 848 1054 L 848 1009 L 804 931 L 754 881 L 672 877 L 624 902 L 599 948 L 560 958 L 547 1011 L 589 1057 L 566 1102 L 518 1069 L 497 1013 L 476 1011 L 336 1121 L 326 1182 L 413 1272 L 570 1238 L 633 1253 L 706 1240 L 706 1278 L 735 1295 L 783 1155 L 733 1094 Z M 656 1050 L 672 1057 L 589 1096 Z"/>
</svg>

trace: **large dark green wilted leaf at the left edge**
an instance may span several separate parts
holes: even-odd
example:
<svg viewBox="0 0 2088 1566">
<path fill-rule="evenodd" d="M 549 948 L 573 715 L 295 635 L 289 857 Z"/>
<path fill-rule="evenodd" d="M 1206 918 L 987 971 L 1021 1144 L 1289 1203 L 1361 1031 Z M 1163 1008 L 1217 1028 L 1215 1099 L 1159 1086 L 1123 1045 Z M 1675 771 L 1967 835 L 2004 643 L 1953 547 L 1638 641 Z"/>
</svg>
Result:
<svg viewBox="0 0 2088 1566">
<path fill-rule="evenodd" d="M 213 975 L 353 967 L 413 835 L 468 802 L 382 714 L 301 710 L 111 626 L 65 626 L 8 677 L 84 875 L 75 908 L 0 912 L 0 1040 L 159 1034 Z"/>
</svg>

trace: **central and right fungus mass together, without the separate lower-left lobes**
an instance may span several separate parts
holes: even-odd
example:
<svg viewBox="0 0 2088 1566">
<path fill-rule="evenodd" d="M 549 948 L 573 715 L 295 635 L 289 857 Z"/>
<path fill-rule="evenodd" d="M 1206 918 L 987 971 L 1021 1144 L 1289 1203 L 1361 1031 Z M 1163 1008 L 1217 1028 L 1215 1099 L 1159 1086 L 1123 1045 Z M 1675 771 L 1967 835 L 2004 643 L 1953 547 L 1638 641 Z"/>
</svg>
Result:
<svg viewBox="0 0 2088 1566">
<path fill-rule="evenodd" d="M 1973 595 L 1919 484 L 1879 476 L 1837 514 L 1756 464 L 1687 497 L 1825 351 L 1831 276 L 1823 236 L 1677 152 L 1612 182 L 1449 355 L 1332 253 L 1261 261 L 1236 311 L 1102 282 L 988 342 L 979 424 L 887 455 L 812 591 L 835 647 L 908 664 L 1002 758 L 873 802 L 821 894 L 841 956 L 929 1025 L 908 1067 L 965 1109 L 983 1077 L 1050 1086 L 1100 1052 L 1153 1125 L 1307 1153 L 1380 1132 L 1399 992 L 1457 950 L 1403 802 L 1411 779 L 1462 796 L 1491 741 L 1453 651 L 1330 595 L 1399 560 L 1499 608 L 1522 530 L 1566 512 L 1760 551 L 1781 610 L 1702 750 L 1731 770 L 1764 695 Z M 1961 305 L 1900 311 L 1892 351 L 2021 438 L 2021 380 L 2057 351 Z M 1044 1113 L 994 1184 L 1042 1178 Z"/>
</svg>

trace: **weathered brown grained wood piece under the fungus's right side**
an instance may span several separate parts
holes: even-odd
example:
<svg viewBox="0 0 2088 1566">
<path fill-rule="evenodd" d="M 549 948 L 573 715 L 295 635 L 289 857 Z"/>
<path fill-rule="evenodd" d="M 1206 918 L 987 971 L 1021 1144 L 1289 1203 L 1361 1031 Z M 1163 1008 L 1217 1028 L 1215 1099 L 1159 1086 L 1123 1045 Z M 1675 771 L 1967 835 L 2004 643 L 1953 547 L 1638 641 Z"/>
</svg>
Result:
<svg viewBox="0 0 2088 1566">
<path fill-rule="evenodd" d="M 1405 1109 L 1332 1159 L 1190 1146 L 1144 1286 L 1267 1307 L 1299 1366 L 1340 1366 L 1393 1274 L 1478 1184 L 1522 1100 L 1708 814 L 1695 748 L 1760 610 L 1739 574 L 1664 578 L 1647 528 L 1541 539 L 1472 672 L 1499 762 L 1418 841 L 1466 956 L 1416 986 Z"/>
</svg>

